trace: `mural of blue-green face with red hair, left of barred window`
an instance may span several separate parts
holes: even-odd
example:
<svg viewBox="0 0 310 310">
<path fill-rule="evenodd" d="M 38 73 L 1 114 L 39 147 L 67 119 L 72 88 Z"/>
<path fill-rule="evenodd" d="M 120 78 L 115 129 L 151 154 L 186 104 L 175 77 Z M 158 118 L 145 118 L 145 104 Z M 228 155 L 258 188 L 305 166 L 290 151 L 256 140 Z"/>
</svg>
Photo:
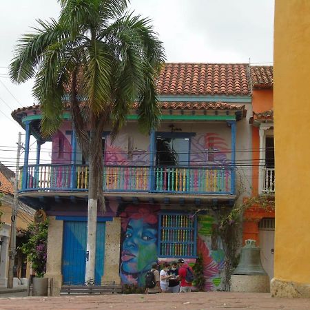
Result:
<svg viewBox="0 0 310 310">
<path fill-rule="evenodd" d="M 157 205 L 120 206 L 123 284 L 145 285 L 145 273 L 157 262 Z"/>
</svg>

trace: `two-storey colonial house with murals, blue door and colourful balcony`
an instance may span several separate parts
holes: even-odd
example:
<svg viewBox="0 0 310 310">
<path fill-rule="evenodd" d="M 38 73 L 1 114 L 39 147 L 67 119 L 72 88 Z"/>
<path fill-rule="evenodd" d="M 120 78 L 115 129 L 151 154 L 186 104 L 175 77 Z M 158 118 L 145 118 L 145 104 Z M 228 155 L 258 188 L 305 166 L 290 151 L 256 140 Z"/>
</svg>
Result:
<svg viewBox="0 0 310 310">
<path fill-rule="evenodd" d="M 203 255 L 206 289 L 221 287 L 224 252 L 213 234 L 218 208 L 251 194 L 252 116 L 247 64 L 166 63 L 157 81 L 161 126 L 138 131 L 137 106 L 112 143 L 102 134 L 107 211 L 98 211 L 95 283 L 143 285 L 158 260 Z M 62 284 L 85 278 L 89 170 L 64 103 L 63 124 L 41 136 L 40 105 L 12 112 L 25 129 L 19 199 L 50 218 L 45 276 Z M 29 165 L 30 135 L 37 163 Z M 51 163 L 41 163 L 52 141 Z"/>
</svg>

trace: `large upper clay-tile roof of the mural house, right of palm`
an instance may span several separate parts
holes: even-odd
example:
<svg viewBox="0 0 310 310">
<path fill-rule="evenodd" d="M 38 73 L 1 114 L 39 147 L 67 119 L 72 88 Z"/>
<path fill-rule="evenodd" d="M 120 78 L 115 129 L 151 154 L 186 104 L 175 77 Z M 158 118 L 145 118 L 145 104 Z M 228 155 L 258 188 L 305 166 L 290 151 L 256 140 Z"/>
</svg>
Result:
<svg viewBox="0 0 310 310">
<path fill-rule="evenodd" d="M 249 65 L 243 63 L 165 63 L 158 94 L 250 94 Z"/>
</svg>

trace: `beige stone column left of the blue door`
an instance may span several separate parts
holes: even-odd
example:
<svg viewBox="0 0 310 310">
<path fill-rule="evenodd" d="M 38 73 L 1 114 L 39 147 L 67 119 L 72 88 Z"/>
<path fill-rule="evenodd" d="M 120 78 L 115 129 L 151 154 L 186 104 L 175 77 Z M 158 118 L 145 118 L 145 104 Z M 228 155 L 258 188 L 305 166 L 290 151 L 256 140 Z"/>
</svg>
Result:
<svg viewBox="0 0 310 310">
<path fill-rule="evenodd" d="M 61 259 L 63 251 L 63 221 L 50 216 L 48 224 L 48 258 L 44 278 L 53 278 L 53 296 L 59 295 L 63 282 Z"/>
</svg>

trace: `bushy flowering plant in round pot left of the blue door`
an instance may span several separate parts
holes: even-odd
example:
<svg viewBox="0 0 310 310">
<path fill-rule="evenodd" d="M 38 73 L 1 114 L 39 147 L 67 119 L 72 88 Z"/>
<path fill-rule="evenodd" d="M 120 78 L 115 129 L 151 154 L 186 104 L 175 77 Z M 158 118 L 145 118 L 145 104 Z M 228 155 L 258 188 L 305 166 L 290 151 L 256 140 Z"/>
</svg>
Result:
<svg viewBox="0 0 310 310">
<path fill-rule="evenodd" d="M 43 278 L 46 271 L 46 257 L 48 246 L 48 220 L 32 223 L 25 231 L 25 242 L 21 251 L 27 255 L 36 276 L 32 279 L 32 295 L 48 295 L 48 278 Z"/>
</svg>

